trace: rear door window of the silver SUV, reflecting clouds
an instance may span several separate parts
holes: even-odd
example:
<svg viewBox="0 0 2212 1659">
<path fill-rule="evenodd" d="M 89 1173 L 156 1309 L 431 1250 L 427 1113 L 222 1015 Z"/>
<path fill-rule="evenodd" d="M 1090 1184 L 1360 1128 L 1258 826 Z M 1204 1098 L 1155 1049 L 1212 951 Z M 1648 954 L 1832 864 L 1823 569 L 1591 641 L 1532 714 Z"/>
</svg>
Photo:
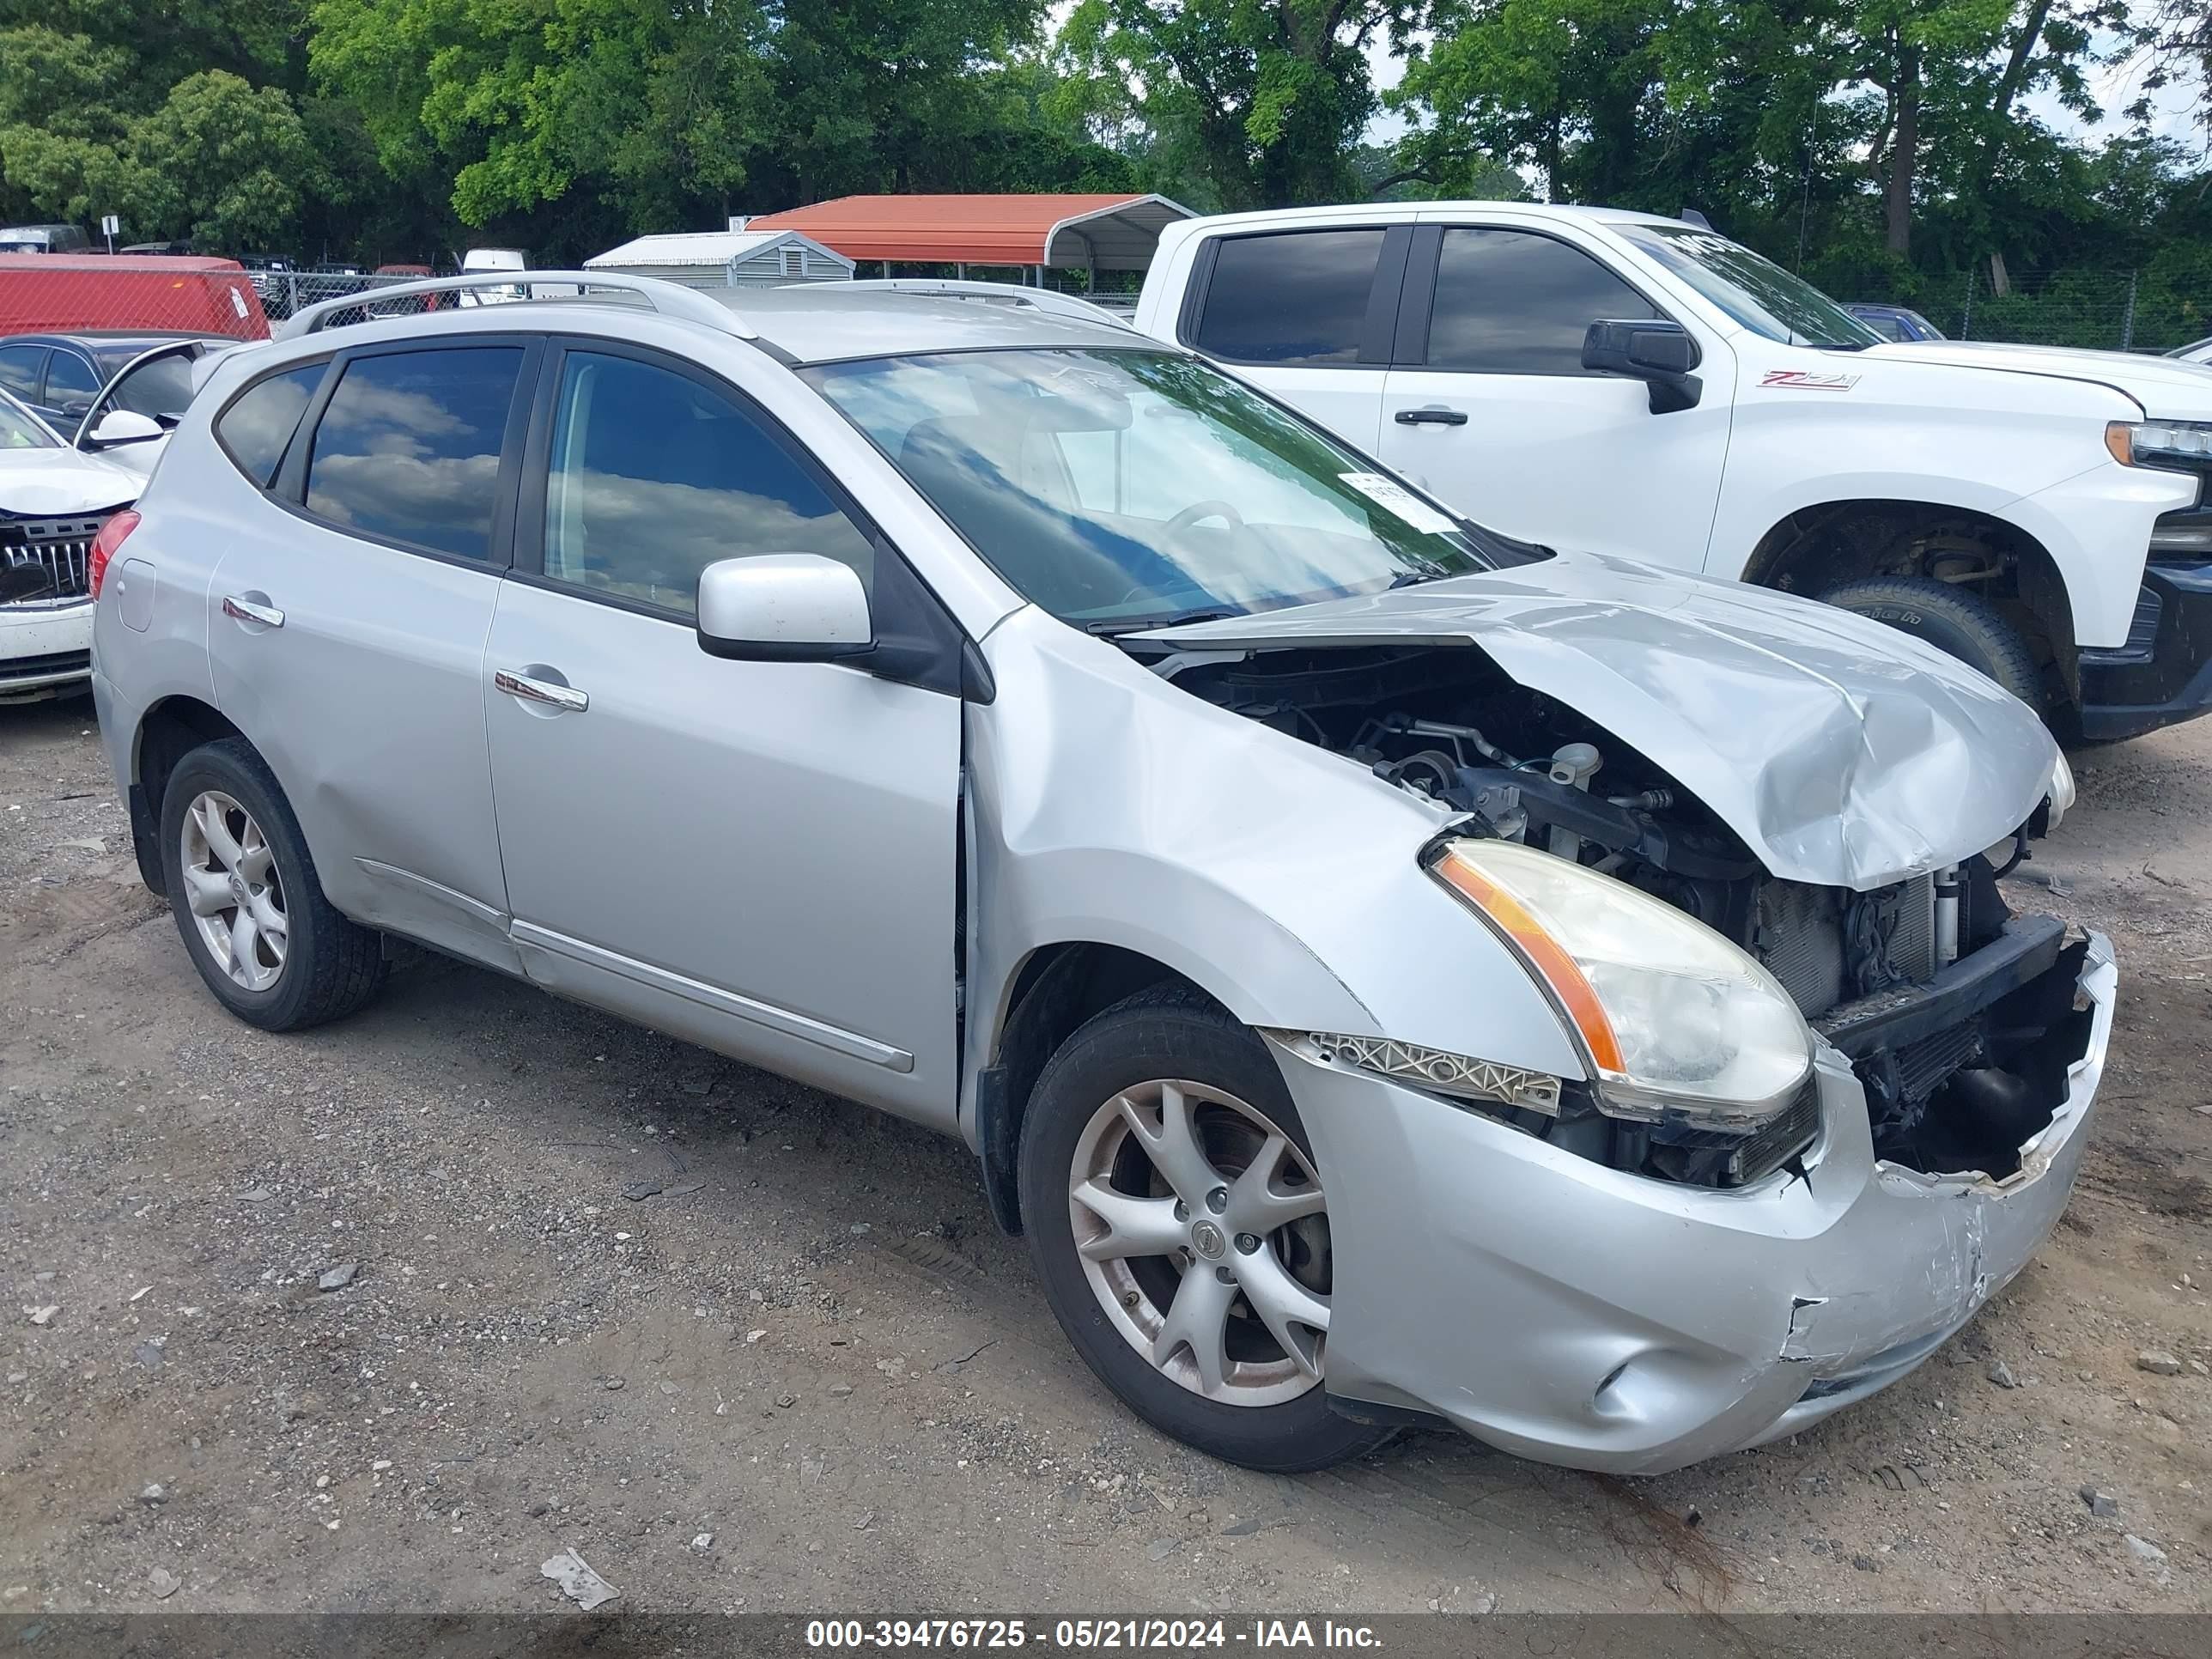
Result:
<svg viewBox="0 0 2212 1659">
<path fill-rule="evenodd" d="M 314 429 L 307 511 L 431 553 L 489 557 L 520 372 L 513 345 L 347 363 Z"/>
</svg>

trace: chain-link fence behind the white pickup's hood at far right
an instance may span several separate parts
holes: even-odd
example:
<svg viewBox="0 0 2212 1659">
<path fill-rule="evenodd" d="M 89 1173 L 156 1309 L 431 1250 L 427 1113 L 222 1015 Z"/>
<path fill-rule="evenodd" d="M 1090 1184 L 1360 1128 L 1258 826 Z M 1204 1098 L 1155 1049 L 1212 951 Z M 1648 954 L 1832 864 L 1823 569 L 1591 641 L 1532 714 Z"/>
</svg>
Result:
<svg viewBox="0 0 2212 1659">
<path fill-rule="evenodd" d="M 1851 299 L 1907 305 L 1953 341 L 2172 352 L 2212 334 L 2212 292 L 2141 268 L 2035 272 L 2000 288 L 1991 272 L 1975 265 L 1898 292 Z"/>
</svg>

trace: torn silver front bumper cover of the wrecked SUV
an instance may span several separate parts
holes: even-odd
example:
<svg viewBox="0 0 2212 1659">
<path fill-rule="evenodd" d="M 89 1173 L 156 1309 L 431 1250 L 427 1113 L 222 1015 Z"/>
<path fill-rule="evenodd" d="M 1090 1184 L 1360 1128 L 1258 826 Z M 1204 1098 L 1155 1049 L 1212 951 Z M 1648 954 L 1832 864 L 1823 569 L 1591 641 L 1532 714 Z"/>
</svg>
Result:
<svg viewBox="0 0 2212 1659">
<path fill-rule="evenodd" d="M 1329 1192 L 1332 1402 L 1489 1444 L 1661 1473 L 1794 1433 L 1924 1360 L 2017 1274 L 2073 1192 L 2112 1033 L 2090 938 L 2088 1048 L 2006 1181 L 1874 1159 L 1849 1062 L 1818 1060 L 1820 1139 L 1739 1190 L 1564 1152 L 1274 1044 Z"/>
</svg>

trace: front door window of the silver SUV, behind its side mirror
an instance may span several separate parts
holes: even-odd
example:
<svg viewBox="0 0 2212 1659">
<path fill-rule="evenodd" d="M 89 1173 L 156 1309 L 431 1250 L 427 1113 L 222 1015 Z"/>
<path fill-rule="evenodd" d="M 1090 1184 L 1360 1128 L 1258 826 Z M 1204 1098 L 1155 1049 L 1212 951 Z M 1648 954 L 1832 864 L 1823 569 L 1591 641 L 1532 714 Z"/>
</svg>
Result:
<svg viewBox="0 0 2212 1659">
<path fill-rule="evenodd" d="M 823 553 L 874 577 L 860 526 L 734 400 L 650 363 L 571 352 L 544 573 L 692 615 L 699 571 L 752 553 Z"/>
</svg>

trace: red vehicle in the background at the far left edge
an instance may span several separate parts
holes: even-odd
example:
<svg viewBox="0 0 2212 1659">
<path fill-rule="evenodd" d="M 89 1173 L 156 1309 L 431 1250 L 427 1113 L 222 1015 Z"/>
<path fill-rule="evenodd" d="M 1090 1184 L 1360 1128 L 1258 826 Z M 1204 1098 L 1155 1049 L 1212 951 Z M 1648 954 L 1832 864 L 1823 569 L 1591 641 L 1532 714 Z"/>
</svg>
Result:
<svg viewBox="0 0 2212 1659">
<path fill-rule="evenodd" d="M 246 268 L 192 254 L 0 254 L 0 334 L 146 330 L 265 341 Z"/>
</svg>

